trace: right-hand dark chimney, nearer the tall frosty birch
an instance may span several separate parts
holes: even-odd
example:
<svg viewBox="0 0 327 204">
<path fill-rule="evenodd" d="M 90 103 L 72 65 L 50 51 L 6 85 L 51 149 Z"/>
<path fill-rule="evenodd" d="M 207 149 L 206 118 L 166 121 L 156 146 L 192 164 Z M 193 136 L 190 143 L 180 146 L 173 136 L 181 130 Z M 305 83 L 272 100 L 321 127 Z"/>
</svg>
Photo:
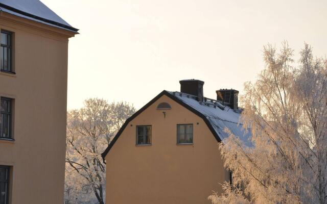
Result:
<svg viewBox="0 0 327 204">
<path fill-rule="evenodd" d="M 224 105 L 227 105 L 234 110 L 239 109 L 239 105 L 238 105 L 239 91 L 235 89 L 220 89 L 216 91 L 216 93 L 217 93 L 217 100 L 222 101 Z"/>
</svg>

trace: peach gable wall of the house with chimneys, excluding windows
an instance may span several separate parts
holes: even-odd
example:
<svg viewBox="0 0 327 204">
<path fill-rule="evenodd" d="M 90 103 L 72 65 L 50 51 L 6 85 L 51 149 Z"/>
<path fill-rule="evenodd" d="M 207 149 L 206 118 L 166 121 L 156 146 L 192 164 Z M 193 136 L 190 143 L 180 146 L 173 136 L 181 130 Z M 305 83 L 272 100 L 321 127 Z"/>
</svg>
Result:
<svg viewBox="0 0 327 204">
<path fill-rule="evenodd" d="M 161 102 L 172 107 L 166 118 L 164 110 L 156 110 Z M 193 145 L 176 144 L 181 123 L 193 123 Z M 135 145 L 136 125 L 152 125 L 151 146 Z M 105 159 L 106 203 L 210 203 L 212 190 L 221 193 L 218 183 L 228 180 L 204 121 L 165 95 L 127 125 Z"/>
</svg>

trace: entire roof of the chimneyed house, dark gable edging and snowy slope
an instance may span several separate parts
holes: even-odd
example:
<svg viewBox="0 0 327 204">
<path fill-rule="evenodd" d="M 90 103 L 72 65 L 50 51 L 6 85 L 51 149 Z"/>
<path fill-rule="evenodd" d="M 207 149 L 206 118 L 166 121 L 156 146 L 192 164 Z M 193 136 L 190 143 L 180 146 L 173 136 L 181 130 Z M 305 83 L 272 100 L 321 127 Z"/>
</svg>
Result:
<svg viewBox="0 0 327 204">
<path fill-rule="evenodd" d="M 170 97 L 176 103 L 180 104 L 181 106 L 185 107 L 186 109 L 190 110 L 191 112 L 202 118 L 205 124 L 208 126 L 209 130 L 212 132 L 213 136 L 216 138 L 217 142 L 221 142 L 228 137 L 228 134 L 224 132 L 225 127 L 227 127 L 234 135 L 240 136 L 240 139 L 245 144 L 250 145 L 250 142 L 248 140 L 250 137 L 250 133 L 246 132 L 243 129 L 242 125 L 239 124 L 241 111 L 234 111 L 214 99 L 204 98 L 204 101 L 199 102 L 197 100 L 197 97 L 194 95 L 164 90 L 125 121 L 121 129 L 118 131 L 118 133 L 115 135 L 115 137 L 112 139 L 112 141 L 106 148 L 106 150 L 101 154 L 103 161 L 105 160 L 105 157 L 108 154 L 109 150 L 118 140 L 119 136 L 123 133 L 128 123 L 136 116 L 141 114 L 145 109 L 151 106 L 157 99 L 159 99 L 163 95 Z"/>
</svg>

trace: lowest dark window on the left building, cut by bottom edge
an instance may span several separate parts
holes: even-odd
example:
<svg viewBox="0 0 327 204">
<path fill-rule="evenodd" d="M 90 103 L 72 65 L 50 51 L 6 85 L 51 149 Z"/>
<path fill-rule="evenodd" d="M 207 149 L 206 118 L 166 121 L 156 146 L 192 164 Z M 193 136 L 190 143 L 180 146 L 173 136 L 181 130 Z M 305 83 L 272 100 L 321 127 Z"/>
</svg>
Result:
<svg viewBox="0 0 327 204">
<path fill-rule="evenodd" d="M 0 166 L 0 204 L 9 203 L 9 166 Z"/>
</svg>

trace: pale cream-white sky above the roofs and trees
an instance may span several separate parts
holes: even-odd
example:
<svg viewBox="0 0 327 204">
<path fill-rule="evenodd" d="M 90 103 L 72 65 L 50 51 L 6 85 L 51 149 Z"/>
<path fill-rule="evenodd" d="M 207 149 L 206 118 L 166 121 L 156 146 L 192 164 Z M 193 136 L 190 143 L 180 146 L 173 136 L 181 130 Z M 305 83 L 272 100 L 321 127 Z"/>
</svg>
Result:
<svg viewBox="0 0 327 204">
<path fill-rule="evenodd" d="M 80 35 L 69 41 L 68 109 L 89 97 L 139 109 L 179 80 L 216 90 L 254 81 L 263 45 L 306 41 L 327 54 L 327 1 L 41 0 Z"/>
</svg>

